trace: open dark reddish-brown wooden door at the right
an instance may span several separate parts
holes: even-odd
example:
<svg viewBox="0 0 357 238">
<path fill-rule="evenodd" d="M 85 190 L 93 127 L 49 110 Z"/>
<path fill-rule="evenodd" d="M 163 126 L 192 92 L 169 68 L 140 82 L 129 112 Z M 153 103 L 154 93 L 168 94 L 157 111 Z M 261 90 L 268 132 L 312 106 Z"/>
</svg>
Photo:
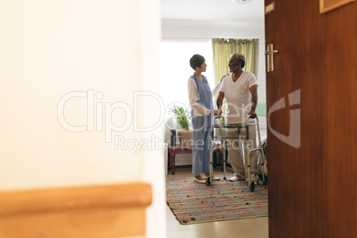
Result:
<svg viewBox="0 0 357 238">
<path fill-rule="evenodd" d="M 267 44 L 269 237 L 357 237 L 357 2 L 274 0 Z"/>
</svg>

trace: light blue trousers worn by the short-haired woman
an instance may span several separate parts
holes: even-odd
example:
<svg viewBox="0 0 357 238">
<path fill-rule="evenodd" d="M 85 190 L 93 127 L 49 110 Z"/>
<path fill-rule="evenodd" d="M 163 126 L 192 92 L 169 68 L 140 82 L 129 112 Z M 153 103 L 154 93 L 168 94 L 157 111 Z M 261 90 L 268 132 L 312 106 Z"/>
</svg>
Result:
<svg viewBox="0 0 357 238">
<path fill-rule="evenodd" d="M 199 176 L 202 172 L 210 173 L 210 116 L 194 115 L 192 125 L 194 128 L 192 132 L 192 174 Z"/>
</svg>

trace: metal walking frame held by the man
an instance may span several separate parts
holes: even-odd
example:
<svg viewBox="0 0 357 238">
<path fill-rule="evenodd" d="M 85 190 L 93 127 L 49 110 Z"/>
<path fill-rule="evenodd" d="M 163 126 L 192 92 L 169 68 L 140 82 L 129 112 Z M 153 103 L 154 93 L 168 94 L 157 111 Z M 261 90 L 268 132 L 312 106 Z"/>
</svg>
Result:
<svg viewBox="0 0 357 238">
<path fill-rule="evenodd" d="M 222 123 L 215 123 L 215 119 L 222 119 Z M 221 128 L 221 129 L 226 129 L 226 128 L 237 128 L 238 129 L 238 139 L 249 139 L 249 126 L 254 125 L 257 128 L 257 133 L 258 133 L 258 147 L 257 148 L 251 148 L 248 153 L 248 159 L 247 159 L 247 168 L 248 168 L 248 186 L 250 187 L 250 191 L 253 192 L 255 189 L 256 184 L 251 181 L 250 179 L 250 154 L 253 152 L 258 152 L 260 153 L 260 165 L 262 168 L 262 174 L 263 174 L 263 184 L 266 185 L 266 178 L 265 178 L 265 171 L 264 171 L 264 153 L 263 153 L 263 148 L 261 145 L 261 140 L 260 140 L 260 129 L 259 129 L 259 120 L 258 116 L 255 118 L 256 122 L 255 123 L 248 123 L 249 118 L 247 117 L 247 121 L 245 124 L 238 124 L 238 125 L 233 125 L 233 124 L 226 124 L 225 123 L 225 118 L 222 115 L 215 115 L 213 120 L 212 120 L 212 131 L 211 131 L 211 143 L 210 143 L 210 177 L 206 178 L 206 185 L 210 186 L 210 183 L 212 181 L 212 172 L 213 172 L 213 139 L 224 139 L 223 140 L 223 148 L 224 148 L 224 153 L 223 153 L 223 171 L 224 171 L 224 177 L 223 179 L 226 179 L 226 139 L 235 139 L 235 138 L 227 138 L 226 137 L 226 130 L 223 130 L 224 133 L 221 136 L 214 136 L 214 129 Z M 246 131 L 246 137 L 242 136 L 241 129 L 244 128 Z"/>
</svg>

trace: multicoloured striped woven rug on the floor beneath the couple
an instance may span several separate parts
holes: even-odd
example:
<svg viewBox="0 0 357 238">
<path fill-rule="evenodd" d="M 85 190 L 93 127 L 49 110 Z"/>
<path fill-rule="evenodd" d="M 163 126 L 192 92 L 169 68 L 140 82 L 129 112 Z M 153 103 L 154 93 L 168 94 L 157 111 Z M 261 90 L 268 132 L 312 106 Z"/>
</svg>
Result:
<svg viewBox="0 0 357 238">
<path fill-rule="evenodd" d="M 210 186 L 194 178 L 167 178 L 166 202 L 180 224 L 266 217 L 267 189 L 246 182 L 213 181 Z"/>
</svg>

